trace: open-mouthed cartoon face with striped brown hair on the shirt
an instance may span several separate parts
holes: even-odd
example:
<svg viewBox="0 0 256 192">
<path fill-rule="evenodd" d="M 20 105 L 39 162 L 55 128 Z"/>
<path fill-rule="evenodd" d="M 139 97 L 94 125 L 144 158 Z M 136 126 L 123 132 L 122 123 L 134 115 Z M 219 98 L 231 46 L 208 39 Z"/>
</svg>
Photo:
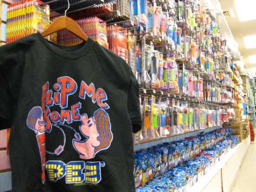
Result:
<svg viewBox="0 0 256 192">
<path fill-rule="evenodd" d="M 81 123 L 80 131 L 87 139 L 73 139 L 73 146 L 81 159 L 92 159 L 98 152 L 109 148 L 112 142 L 109 114 L 102 109 L 95 111 L 89 119 L 83 114 Z"/>
</svg>

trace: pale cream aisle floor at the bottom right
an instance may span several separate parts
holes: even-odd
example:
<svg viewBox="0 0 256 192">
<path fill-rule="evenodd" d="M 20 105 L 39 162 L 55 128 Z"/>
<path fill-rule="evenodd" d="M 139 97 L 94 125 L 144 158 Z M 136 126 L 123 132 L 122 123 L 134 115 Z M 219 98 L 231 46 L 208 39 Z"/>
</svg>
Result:
<svg viewBox="0 0 256 192">
<path fill-rule="evenodd" d="M 256 191 L 256 143 L 250 144 L 230 192 Z"/>
</svg>

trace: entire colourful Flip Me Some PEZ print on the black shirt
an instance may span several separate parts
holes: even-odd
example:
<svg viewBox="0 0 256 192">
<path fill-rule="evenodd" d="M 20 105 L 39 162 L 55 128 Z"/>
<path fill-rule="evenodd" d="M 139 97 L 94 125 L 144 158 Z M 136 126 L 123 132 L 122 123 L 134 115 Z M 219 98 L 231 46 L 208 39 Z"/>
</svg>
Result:
<svg viewBox="0 0 256 192">
<path fill-rule="evenodd" d="M 69 97 L 79 90 L 78 102 L 69 103 Z M 91 97 L 93 103 L 99 106 L 92 117 L 80 114 L 82 108 L 79 100 Z M 97 153 L 107 150 L 113 140 L 111 131 L 111 122 L 109 114 L 105 111 L 110 109 L 106 103 L 108 97 L 102 88 L 95 89 L 94 83 L 89 86 L 86 82 L 81 81 L 78 88 L 77 82 L 69 77 L 63 76 L 57 79 L 53 89 L 49 89 L 47 81 L 42 86 L 41 106 L 35 106 L 29 112 L 27 125 L 37 136 L 39 152 L 42 162 L 42 181 L 45 181 L 45 170 L 48 174 L 49 181 L 57 182 L 66 176 L 66 183 L 99 183 L 101 181 L 101 168 L 105 166 L 103 161 L 91 161 Z M 51 106 L 58 105 L 59 111 L 50 110 Z M 69 108 L 70 109 L 67 109 Z M 73 127 L 73 122 L 80 122 L 79 127 Z M 79 128 L 79 129 L 78 129 Z M 42 133 L 51 134 L 52 129 L 59 129 L 62 132 L 63 142 L 53 151 L 47 151 L 45 148 L 45 134 L 42 139 Z M 72 143 L 66 143 L 65 129 L 74 132 Z M 77 131 L 79 130 L 79 131 Z M 81 139 L 80 134 L 84 137 Z M 81 161 L 53 161 L 45 163 L 45 154 L 59 156 L 65 151 L 65 144 L 72 144 L 74 150 Z M 87 161 L 91 159 L 90 161 Z"/>
</svg>

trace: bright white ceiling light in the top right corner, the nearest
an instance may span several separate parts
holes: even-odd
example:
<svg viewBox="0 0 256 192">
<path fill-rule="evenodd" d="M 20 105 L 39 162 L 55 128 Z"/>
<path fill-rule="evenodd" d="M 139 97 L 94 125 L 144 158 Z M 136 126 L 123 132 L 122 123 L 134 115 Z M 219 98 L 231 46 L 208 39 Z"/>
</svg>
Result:
<svg viewBox="0 0 256 192">
<path fill-rule="evenodd" d="M 238 17 L 240 22 L 245 22 L 246 20 L 256 19 L 256 1 L 254 0 L 235 0 Z"/>
</svg>

